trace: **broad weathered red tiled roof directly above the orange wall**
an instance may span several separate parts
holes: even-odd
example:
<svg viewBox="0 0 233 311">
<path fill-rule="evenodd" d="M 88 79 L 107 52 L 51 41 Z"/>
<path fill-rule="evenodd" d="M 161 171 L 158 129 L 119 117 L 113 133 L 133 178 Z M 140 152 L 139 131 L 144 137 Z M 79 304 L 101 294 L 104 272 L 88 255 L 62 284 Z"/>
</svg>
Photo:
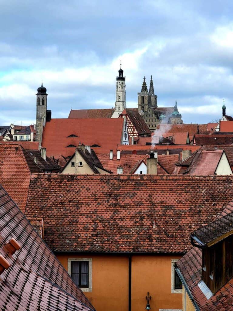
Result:
<svg viewBox="0 0 233 311">
<path fill-rule="evenodd" d="M 46 219 L 54 251 L 184 253 L 232 196 L 233 176 L 39 174 L 25 215 Z"/>
</svg>

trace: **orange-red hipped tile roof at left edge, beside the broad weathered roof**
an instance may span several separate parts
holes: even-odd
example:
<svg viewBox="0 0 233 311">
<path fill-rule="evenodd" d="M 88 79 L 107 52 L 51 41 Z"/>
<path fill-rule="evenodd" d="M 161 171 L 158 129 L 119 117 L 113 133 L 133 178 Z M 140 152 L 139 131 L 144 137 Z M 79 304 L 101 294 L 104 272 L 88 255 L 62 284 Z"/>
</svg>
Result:
<svg viewBox="0 0 233 311">
<path fill-rule="evenodd" d="M 24 212 L 31 172 L 42 172 L 21 145 L 0 144 L 0 183 Z"/>
</svg>

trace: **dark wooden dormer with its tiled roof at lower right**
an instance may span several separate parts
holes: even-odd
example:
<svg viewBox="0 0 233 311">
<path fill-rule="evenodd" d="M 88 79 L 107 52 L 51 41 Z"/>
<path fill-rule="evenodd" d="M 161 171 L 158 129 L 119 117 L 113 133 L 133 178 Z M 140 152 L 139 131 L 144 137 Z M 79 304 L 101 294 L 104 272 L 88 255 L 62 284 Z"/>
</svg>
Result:
<svg viewBox="0 0 233 311">
<path fill-rule="evenodd" d="M 191 243 L 202 249 L 199 287 L 212 296 L 233 277 L 233 212 L 195 231 Z"/>
</svg>

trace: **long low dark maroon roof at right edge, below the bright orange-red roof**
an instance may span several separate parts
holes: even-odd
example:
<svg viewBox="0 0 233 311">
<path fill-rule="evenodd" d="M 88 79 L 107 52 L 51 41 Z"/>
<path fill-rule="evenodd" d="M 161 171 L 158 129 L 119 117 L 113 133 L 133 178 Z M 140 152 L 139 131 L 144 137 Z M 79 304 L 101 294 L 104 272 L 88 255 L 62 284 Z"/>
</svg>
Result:
<svg viewBox="0 0 233 311">
<path fill-rule="evenodd" d="M 228 121 L 225 121 L 228 122 Z M 231 145 L 233 144 L 233 134 L 232 135 L 204 135 L 196 134 L 195 142 L 198 146 L 203 145 Z"/>
</svg>

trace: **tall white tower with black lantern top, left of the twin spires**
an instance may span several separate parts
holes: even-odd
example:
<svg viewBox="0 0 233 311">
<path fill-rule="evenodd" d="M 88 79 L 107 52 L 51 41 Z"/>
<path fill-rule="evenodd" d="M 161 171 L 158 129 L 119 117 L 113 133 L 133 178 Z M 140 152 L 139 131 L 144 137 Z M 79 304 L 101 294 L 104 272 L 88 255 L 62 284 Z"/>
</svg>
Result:
<svg viewBox="0 0 233 311">
<path fill-rule="evenodd" d="M 123 76 L 123 70 L 121 68 L 118 72 L 115 111 L 112 114 L 112 118 L 118 118 L 126 108 L 126 77 Z"/>
</svg>

